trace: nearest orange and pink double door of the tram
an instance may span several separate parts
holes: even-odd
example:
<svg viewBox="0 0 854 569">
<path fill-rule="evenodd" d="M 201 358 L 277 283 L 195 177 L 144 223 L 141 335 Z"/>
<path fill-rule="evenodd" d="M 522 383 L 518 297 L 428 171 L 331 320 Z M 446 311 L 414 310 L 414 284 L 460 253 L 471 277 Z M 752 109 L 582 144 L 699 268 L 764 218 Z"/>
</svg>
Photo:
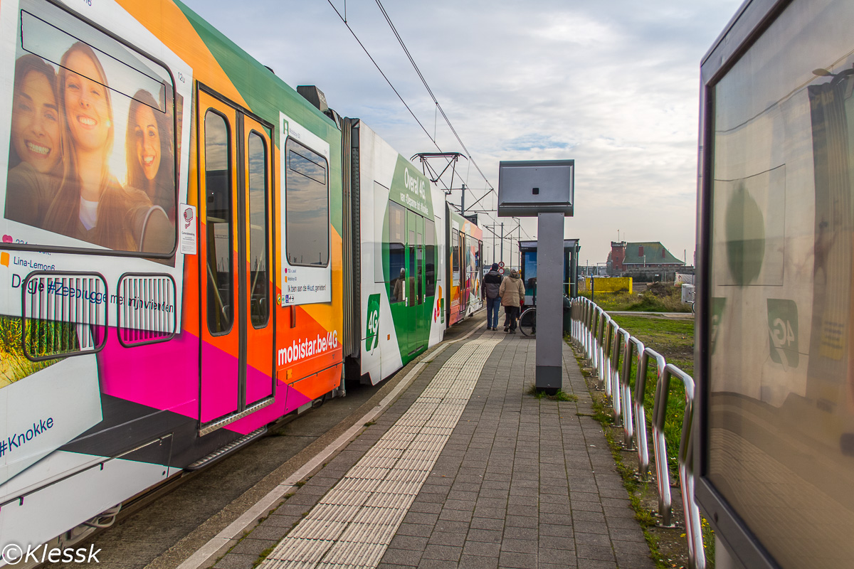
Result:
<svg viewBox="0 0 854 569">
<path fill-rule="evenodd" d="M 199 91 L 202 423 L 272 396 L 270 130 Z"/>
</svg>

